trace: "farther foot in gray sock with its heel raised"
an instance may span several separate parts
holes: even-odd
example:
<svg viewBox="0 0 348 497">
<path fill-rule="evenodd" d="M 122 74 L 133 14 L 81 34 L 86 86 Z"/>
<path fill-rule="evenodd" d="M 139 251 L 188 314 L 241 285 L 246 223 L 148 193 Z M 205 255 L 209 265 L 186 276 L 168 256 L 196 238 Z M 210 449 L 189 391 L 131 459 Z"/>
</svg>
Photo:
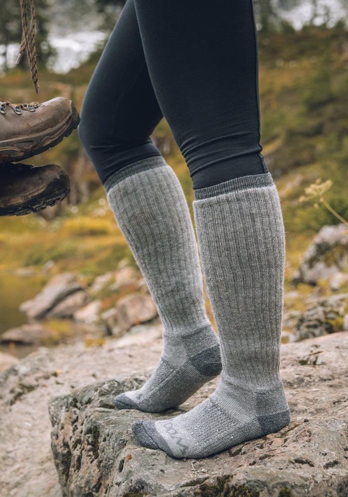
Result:
<svg viewBox="0 0 348 497">
<path fill-rule="evenodd" d="M 117 409 L 158 413 L 182 404 L 221 372 L 220 346 L 208 327 L 191 335 L 165 336 L 164 350 L 150 380 L 114 398 Z"/>
</svg>

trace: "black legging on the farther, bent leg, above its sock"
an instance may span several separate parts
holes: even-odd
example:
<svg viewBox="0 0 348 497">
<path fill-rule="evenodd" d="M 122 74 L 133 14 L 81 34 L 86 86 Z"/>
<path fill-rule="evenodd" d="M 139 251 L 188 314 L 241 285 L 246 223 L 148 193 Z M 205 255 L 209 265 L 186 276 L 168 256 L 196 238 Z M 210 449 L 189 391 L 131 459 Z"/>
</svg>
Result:
<svg viewBox="0 0 348 497">
<path fill-rule="evenodd" d="M 128 0 L 88 84 L 79 136 L 101 182 L 123 167 L 161 157 L 150 135 L 163 114 Z"/>
</svg>

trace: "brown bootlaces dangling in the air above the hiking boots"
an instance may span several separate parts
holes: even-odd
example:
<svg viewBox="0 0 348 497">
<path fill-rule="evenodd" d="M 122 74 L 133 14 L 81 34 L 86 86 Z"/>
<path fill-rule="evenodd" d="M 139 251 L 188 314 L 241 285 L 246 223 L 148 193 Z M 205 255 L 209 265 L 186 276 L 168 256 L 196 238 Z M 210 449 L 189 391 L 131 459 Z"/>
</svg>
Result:
<svg viewBox="0 0 348 497">
<path fill-rule="evenodd" d="M 27 0 L 20 0 L 20 8 L 22 11 L 22 42 L 20 44 L 19 55 L 16 64 L 19 63 L 20 58 L 26 51 L 31 81 L 34 83 L 35 91 L 38 92 L 37 81 L 37 65 L 36 65 L 36 51 L 35 51 L 35 9 L 33 0 L 30 1 L 30 26 L 28 30 L 28 15 L 27 15 Z"/>
</svg>

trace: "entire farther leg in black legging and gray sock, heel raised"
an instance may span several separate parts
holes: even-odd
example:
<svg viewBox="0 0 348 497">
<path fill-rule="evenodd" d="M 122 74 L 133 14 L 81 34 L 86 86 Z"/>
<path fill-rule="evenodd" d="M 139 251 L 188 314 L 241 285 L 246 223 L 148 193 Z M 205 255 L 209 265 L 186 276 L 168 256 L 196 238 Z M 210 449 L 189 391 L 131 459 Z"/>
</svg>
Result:
<svg viewBox="0 0 348 497">
<path fill-rule="evenodd" d="M 151 379 L 114 400 L 118 409 L 149 412 L 181 404 L 221 371 L 184 194 L 149 138 L 161 118 L 128 0 L 88 87 L 80 137 L 164 326 Z"/>
</svg>

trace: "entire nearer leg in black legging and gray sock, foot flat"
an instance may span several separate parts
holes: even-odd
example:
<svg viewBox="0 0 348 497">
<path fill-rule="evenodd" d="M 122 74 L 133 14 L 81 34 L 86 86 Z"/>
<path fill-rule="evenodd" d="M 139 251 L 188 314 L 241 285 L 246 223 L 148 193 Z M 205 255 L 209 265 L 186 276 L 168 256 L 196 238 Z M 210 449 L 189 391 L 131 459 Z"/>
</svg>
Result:
<svg viewBox="0 0 348 497">
<path fill-rule="evenodd" d="M 189 413 L 132 429 L 146 447 L 204 457 L 289 422 L 279 375 L 284 228 L 260 156 L 252 3 L 135 5 L 156 96 L 192 174 L 223 373 L 214 394 Z"/>
</svg>

